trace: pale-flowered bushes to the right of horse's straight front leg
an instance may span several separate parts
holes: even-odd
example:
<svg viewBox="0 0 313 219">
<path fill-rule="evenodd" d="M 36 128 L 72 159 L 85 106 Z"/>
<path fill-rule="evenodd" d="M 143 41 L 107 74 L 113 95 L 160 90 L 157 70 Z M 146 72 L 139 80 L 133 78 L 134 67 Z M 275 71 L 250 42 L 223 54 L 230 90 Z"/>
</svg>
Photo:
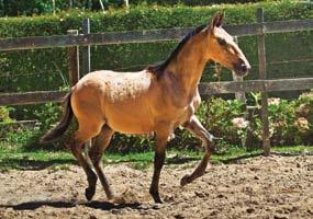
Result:
<svg viewBox="0 0 313 219">
<path fill-rule="evenodd" d="M 256 110 L 250 122 L 246 120 L 243 103 L 233 100 L 211 99 L 202 103 L 198 117 L 215 137 L 222 138 L 219 146 L 241 145 L 247 129 L 253 130 L 253 145 L 260 146 L 262 124 L 260 119 L 260 97 L 253 94 L 250 105 Z M 304 93 L 297 100 L 269 99 L 270 140 L 273 146 L 313 143 L 313 93 Z M 170 145 L 195 149 L 199 146 L 190 134 L 177 131 L 177 138 Z"/>
</svg>

